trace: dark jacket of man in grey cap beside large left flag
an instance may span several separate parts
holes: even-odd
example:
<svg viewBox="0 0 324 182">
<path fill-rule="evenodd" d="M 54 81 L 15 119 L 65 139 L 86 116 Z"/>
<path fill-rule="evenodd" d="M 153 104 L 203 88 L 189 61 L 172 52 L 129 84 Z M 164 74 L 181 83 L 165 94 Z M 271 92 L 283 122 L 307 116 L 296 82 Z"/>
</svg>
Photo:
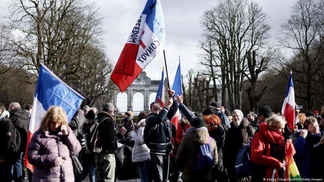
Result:
<svg viewBox="0 0 324 182">
<path fill-rule="evenodd" d="M 23 111 L 21 108 L 15 108 L 10 112 L 9 119 L 15 125 L 15 127 L 17 128 L 20 134 L 21 142 L 20 142 L 19 152 L 25 152 L 26 145 L 27 145 L 29 122 L 30 122 L 29 112 Z"/>
</svg>

